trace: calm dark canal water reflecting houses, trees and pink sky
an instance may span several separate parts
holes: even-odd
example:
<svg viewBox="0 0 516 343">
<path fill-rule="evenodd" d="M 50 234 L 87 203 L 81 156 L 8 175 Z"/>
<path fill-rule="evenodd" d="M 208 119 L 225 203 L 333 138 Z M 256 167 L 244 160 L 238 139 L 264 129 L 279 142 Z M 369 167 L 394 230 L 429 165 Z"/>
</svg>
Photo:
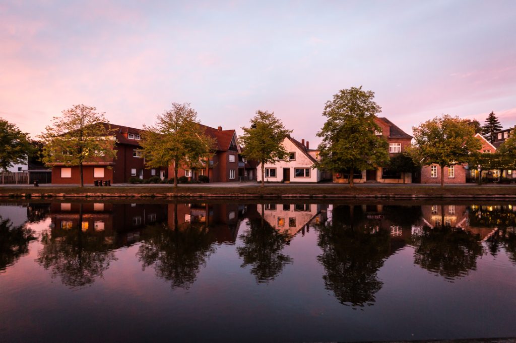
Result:
<svg viewBox="0 0 516 343">
<path fill-rule="evenodd" d="M 516 203 L 0 203 L 2 342 L 514 337 L 515 319 Z"/>
</svg>

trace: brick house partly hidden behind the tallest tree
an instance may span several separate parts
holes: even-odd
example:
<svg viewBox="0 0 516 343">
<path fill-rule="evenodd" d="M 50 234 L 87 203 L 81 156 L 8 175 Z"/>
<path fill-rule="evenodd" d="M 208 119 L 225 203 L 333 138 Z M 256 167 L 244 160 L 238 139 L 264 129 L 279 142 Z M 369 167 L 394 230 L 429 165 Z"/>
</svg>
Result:
<svg viewBox="0 0 516 343">
<path fill-rule="evenodd" d="M 412 136 L 399 127 L 394 125 L 385 117 L 376 117 L 376 124 L 380 127 L 375 132 L 389 143 L 389 156 L 392 158 L 404 152 L 411 144 Z M 393 173 L 388 167 L 379 166 L 373 170 L 355 170 L 353 176 L 354 183 L 362 182 L 382 182 L 382 183 L 411 183 L 410 173 Z M 334 173 L 333 182 L 348 183 L 349 173 Z"/>
</svg>

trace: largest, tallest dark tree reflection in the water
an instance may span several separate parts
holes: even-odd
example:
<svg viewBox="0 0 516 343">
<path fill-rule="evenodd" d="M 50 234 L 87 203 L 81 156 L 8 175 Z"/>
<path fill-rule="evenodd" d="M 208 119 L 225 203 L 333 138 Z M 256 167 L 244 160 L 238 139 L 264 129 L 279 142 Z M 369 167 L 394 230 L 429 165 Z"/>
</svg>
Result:
<svg viewBox="0 0 516 343">
<path fill-rule="evenodd" d="M 377 271 L 388 256 L 390 232 L 364 220 L 360 207 L 335 207 L 332 216 L 318 227 L 322 253 L 317 259 L 326 271 L 326 289 L 344 305 L 372 305 L 383 285 Z"/>
</svg>

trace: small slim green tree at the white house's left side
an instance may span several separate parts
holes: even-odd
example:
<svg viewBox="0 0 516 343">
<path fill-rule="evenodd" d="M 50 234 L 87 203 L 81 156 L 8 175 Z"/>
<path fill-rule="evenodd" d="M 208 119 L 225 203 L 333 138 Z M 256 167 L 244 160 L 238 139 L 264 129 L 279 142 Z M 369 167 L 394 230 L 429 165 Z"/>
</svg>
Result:
<svg viewBox="0 0 516 343">
<path fill-rule="evenodd" d="M 256 111 L 251 119 L 249 127 L 243 127 L 244 134 L 240 136 L 240 142 L 244 146 L 243 156 L 248 160 L 255 160 L 262 168 L 262 187 L 265 179 L 265 164 L 275 163 L 287 156 L 283 147 L 283 139 L 292 132 L 283 126 L 274 112 Z"/>
</svg>

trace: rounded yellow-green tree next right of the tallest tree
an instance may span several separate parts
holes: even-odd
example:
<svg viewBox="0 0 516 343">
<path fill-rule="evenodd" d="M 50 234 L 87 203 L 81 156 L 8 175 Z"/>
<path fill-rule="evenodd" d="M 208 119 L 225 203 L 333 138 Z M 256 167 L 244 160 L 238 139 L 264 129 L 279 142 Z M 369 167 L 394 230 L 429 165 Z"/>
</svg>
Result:
<svg viewBox="0 0 516 343">
<path fill-rule="evenodd" d="M 444 167 L 466 163 L 470 154 L 481 147 L 470 125 L 447 114 L 413 127 L 412 131 L 417 159 L 423 165 L 441 167 L 441 187 L 444 187 Z"/>
</svg>

